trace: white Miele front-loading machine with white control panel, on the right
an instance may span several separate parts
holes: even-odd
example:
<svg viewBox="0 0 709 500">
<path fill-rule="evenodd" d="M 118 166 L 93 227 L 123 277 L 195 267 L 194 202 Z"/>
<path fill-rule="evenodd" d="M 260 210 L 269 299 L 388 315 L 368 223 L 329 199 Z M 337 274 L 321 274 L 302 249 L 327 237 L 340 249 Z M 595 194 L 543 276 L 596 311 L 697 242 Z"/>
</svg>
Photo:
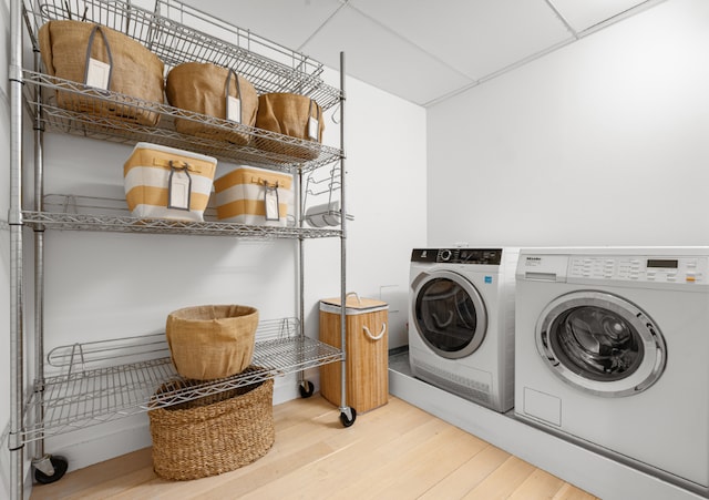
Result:
<svg viewBox="0 0 709 500">
<path fill-rule="evenodd" d="M 515 409 L 709 492 L 709 248 L 522 249 Z"/>
</svg>

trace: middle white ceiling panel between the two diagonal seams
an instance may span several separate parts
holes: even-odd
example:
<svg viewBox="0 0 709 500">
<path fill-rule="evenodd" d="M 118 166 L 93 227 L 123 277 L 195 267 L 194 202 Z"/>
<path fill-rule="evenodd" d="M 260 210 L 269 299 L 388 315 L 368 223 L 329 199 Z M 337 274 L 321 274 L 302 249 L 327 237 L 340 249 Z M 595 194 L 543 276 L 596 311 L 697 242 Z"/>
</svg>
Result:
<svg viewBox="0 0 709 500">
<path fill-rule="evenodd" d="M 349 4 L 471 79 L 572 37 L 544 0 L 350 0 Z"/>
</svg>

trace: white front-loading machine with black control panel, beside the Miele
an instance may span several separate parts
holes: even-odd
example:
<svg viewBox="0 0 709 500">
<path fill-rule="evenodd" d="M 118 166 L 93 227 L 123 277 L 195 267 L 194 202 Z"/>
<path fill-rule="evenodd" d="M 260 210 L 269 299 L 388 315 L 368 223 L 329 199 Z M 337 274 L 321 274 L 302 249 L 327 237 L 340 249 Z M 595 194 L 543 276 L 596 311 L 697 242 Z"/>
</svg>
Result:
<svg viewBox="0 0 709 500">
<path fill-rule="evenodd" d="M 496 411 L 514 404 L 517 248 L 411 254 L 409 364 L 414 377 Z"/>
</svg>

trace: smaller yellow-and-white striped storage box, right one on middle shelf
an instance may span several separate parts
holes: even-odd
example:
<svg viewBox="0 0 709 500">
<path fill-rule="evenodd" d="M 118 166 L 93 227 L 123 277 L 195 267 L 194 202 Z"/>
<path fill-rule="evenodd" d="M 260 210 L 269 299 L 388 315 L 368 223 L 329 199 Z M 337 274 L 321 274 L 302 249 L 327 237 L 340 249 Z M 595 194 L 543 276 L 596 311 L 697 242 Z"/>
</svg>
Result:
<svg viewBox="0 0 709 500">
<path fill-rule="evenodd" d="M 214 181 L 217 217 L 250 225 L 288 225 L 294 214 L 292 175 L 240 166 Z"/>
</svg>

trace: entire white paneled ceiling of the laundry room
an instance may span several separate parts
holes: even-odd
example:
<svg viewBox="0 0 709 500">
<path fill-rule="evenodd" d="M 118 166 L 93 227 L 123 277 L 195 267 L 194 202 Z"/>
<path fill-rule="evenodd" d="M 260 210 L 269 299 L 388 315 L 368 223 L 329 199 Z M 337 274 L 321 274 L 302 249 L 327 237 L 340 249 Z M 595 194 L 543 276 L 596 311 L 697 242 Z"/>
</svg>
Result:
<svg viewBox="0 0 709 500">
<path fill-rule="evenodd" d="M 186 1 L 425 106 L 669 0 Z"/>
</svg>

